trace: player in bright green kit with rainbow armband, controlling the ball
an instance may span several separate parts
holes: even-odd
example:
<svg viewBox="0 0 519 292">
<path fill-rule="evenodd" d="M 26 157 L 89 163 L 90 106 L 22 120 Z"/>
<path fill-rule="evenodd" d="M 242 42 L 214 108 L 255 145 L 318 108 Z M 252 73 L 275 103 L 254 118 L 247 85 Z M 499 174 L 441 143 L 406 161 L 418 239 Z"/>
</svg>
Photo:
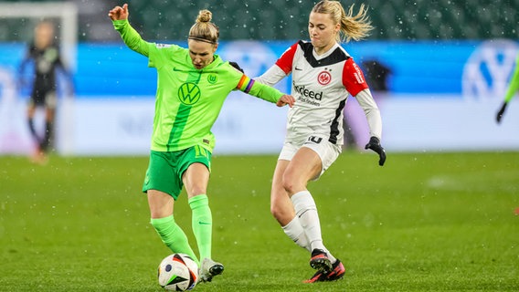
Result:
<svg viewBox="0 0 519 292">
<path fill-rule="evenodd" d="M 207 199 L 211 152 L 215 146 L 211 127 L 224 100 L 235 89 L 279 107 L 292 106 L 295 100 L 254 82 L 215 54 L 219 31 L 210 22 L 212 15 L 208 10 L 200 11 L 189 30 L 188 48 L 144 41 L 128 22 L 127 4 L 114 7 L 108 16 L 126 46 L 148 57 L 148 66 L 158 73 L 150 162 L 143 184 L 151 224 L 174 253 L 196 260 L 200 280 L 211 281 L 224 270 L 211 257 L 212 215 Z M 174 203 L 184 186 L 200 261 L 184 231 L 175 224 Z"/>
</svg>

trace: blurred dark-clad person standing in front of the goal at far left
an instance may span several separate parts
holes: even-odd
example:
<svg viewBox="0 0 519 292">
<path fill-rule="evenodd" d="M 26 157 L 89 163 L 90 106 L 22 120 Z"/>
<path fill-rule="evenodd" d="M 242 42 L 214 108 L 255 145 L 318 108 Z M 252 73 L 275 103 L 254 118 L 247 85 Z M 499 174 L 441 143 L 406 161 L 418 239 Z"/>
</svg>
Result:
<svg viewBox="0 0 519 292">
<path fill-rule="evenodd" d="M 41 21 L 34 31 L 34 39 L 27 48 L 26 56 L 19 68 L 19 86 L 26 87 L 24 73 L 32 63 L 34 72 L 32 78 L 31 95 L 27 107 L 27 122 L 30 133 L 36 142 L 36 150 L 33 161 L 47 162 L 47 154 L 52 146 L 54 134 L 54 120 L 58 104 L 57 72 L 60 70 L 68 81 L 68 96 L 72 96 L 74 86 L 72 75 L 65 67 L 59 48 L 55 43 L 56 35 L 54 24 L 51 21 Z M 35 126 L 35 113 L 37 108 L 45 109 L 45 128 L 43 133 L 38 133 Z"/>
</svg>

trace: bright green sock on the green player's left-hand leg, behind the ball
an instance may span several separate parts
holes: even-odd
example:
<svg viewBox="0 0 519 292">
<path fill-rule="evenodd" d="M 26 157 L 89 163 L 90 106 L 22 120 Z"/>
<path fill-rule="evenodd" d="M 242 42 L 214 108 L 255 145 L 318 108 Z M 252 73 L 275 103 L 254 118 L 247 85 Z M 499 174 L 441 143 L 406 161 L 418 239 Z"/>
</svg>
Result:
<svg viewBox="0 0 519 292">
<path fill-rule="evenodd" d="M 164 245 L 169 247 L 172 252 L 189 255 L 199 264 L 198 258 L 187 241 L 187 236 L 185 236 L 182 228 L 175 223 L 173 215 L 164 218 L 152 218 L 151 224 L 157 234 L 161 236 Z"/>
</svg>

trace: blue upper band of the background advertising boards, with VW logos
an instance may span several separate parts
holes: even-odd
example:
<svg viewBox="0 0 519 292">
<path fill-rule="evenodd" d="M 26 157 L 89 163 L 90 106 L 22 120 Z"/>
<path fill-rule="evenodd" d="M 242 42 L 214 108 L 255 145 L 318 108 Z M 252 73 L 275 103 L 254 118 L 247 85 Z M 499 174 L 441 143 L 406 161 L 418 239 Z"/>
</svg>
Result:
<svg viewBox="0 0 519 292">
<path fill-rule="evenodd" d="M 222 42 L 217 54 L 238 62 L 246 74 L 255 77 L 270 68 L 292 43 Z M 186 46 L 185 43 L 178 45 Z M 392 93 L 461 96 L 471 87 L 486 88 L 484 94 L 501 94 L 519 45 L 510 40 L 365 41 L 344 44 L 344 48 L 364 69 L 365 75 L 380 77 L 380 70 L 385 70 L 381 82 Z M 0 44 L 0 70 L 17 79 L 17 67 L 24 53 L 23 44 Z M 79 44 L 77 58 L 74 79 L 76 95 L 80 98 L 154 95 L 154 68 L 147 68 L 147 58 L 122 43 Z M 367 78 L 370 85 L 376 87 L 376 81 Z M 290 90 L 288 85 L 281 89 Z"/>
</svg>

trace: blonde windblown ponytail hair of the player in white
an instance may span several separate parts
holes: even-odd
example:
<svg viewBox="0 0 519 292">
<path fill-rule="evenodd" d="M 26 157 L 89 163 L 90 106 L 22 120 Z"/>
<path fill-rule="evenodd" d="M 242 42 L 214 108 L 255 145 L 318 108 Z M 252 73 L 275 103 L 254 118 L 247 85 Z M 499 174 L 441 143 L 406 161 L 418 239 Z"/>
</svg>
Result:
<svg viewBox="0 0 519 292">
<path fill-rule="evenodd" d="M 341 24 L 341 30 L 336 36 L 337 42 L 347 43 L 352 38 L 360 40 L 369 36 L 369 31 L 373 29 L 364 4 L 360 5 L 356 15 L 354 15 L 354 5 L 351 5 L 346 15 L 339 1 L 323 0 L 313 6 L 312 12 L 330 15 L 335 24 Z"/>
</svg>

